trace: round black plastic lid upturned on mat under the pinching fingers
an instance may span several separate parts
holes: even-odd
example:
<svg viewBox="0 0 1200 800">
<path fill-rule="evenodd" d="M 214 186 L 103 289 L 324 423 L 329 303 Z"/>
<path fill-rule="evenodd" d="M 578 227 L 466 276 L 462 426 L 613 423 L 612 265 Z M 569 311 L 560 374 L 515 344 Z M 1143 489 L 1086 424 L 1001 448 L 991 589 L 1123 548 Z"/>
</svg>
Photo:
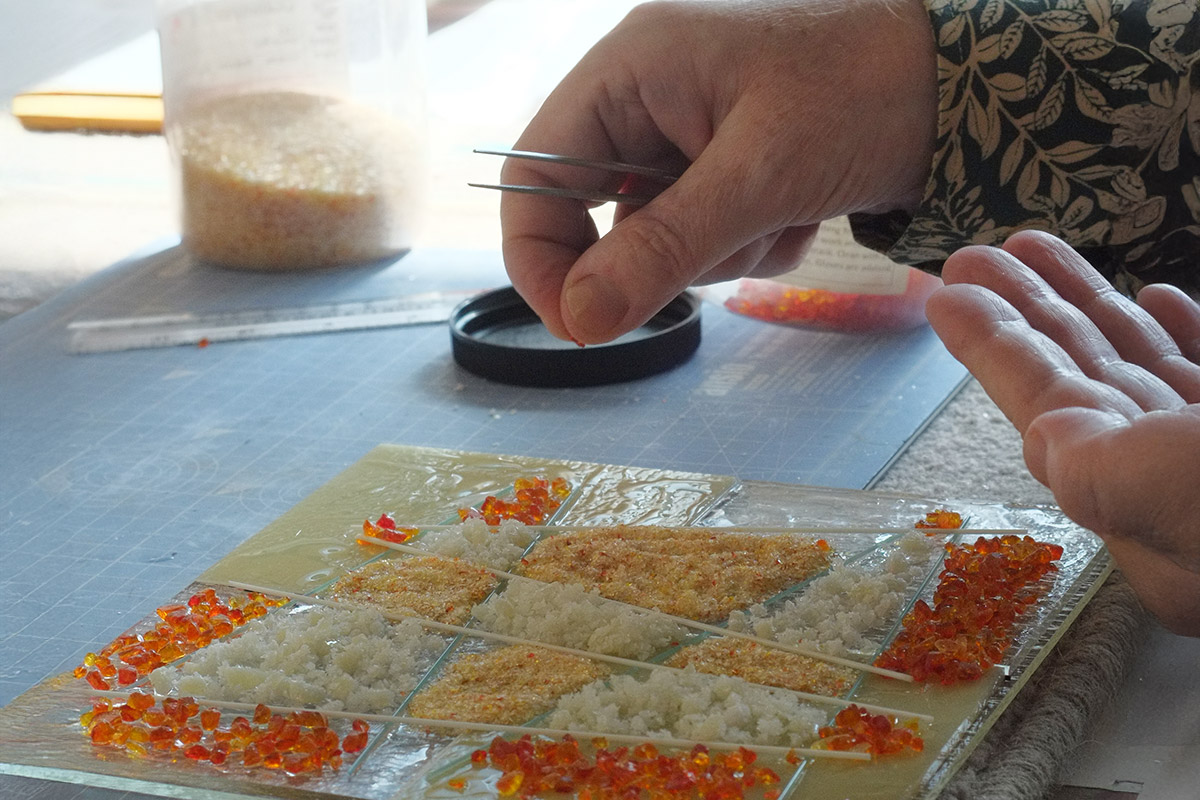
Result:
<svg viewBox="0 0 1200 800">
<path fill-rule="evenodd" d="M 685 291 L 648 323 L 606 344 L 551 335 L 516 289 L 473 297 L 450 317 L 454 360 L 481 378 L 516 386 L 598 386 L 676 367 L 700 347 L 700 299 Z"/>
</svg>

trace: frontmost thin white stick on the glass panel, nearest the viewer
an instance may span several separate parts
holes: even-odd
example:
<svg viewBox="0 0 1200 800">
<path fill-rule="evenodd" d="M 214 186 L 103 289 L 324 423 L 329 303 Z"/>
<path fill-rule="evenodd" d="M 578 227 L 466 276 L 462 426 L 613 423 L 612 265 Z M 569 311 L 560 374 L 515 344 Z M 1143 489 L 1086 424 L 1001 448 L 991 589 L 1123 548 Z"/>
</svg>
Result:
<svg viewBox="0 0 1200 800">
<path fill-rule="evenodd" d="M 113 691 L 92 691 L 91 694 L 98 697 L 113 697 L 113 698 L 127 698 L 130 692 L 113 692 Z M 155 697 L 169 697 L 155 694 Z M 205 697 L 193 697 L 197 703 L 203 703 L 205 705 L 212 705 L 217 708 L 229 709 L 230 711 L 253 711 L 256 705 L 253 703 L 239 703 L 236 700 L 214 700 Z M 732 751 L 739 747 L 745 747 L 746 750 L 754 750 L 755 752 L 769 753 L 772 756 L 786 757 L 788 753 L 796 753 L 802 758 L 834 758 L 842 760 L 856 760 L 856 762 L 869 762 L 871 760 L 870 753 L 859 753 L 852 751 L 841 750 L 816 750 L 811 747 L 781 747 L 779 745 L 744 745 L 732 741 L 695 741 L 691 739 L 674 739 L 672 736 L 634 736 L 625 733 L 605 733 L 602 730 L 568 730 L 565 728 L 526 728 L 516 724 L 500 724 L 491 722 L 468 722 L 464 720 L 436 720 L 432 717 L 410 717 L 410 716 L 389 716 L 386 714 L 354 714 L 353 711 L 324 711 L 322 709 L 305 709 L 299 706 L 289 705 L 271 705 L 269 706 L 272 711 L 280 714 L 295 714 L 298 711 L 317 711 L 330 718 L 337 720 L 362 720 L 364 722 L 374 722 L 378 724 L 410 724 L 410 726 L 426 726 L 430 728 L 450 728 L 452 730 L 469 730 L 469 732 L 500 732 L 500 733 L 515 733 L 515 734 L 529 734 L 539 736 L 565 736 L 571 735 L 576 739 L 598 739 L 604 738 L 611 741 L 623 741 L 629 744 L 640 744 L 648 741 L 655 746 L 662 747 L 679 747 L 683 750 L 690 750 L 696 745 L 703 745 L 709 750 L 722 750 Z"/>
</svg>

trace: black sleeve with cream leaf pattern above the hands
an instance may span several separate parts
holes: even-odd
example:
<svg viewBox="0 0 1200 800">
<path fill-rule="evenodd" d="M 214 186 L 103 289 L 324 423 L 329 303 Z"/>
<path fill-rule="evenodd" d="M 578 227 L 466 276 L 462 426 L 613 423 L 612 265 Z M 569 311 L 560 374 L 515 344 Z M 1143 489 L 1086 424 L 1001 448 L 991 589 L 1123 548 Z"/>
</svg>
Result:
<svg viewBox="0 0 1200 800">
<path fill-rule="evenodd" d="M 893 259 L 937 271 L 954 249 L 1027 228 L 1127 291 L 1200 289 L 1200 4 L 925 0 L 938 139 L 912 217 L 852 217 Z"/>
</svg>

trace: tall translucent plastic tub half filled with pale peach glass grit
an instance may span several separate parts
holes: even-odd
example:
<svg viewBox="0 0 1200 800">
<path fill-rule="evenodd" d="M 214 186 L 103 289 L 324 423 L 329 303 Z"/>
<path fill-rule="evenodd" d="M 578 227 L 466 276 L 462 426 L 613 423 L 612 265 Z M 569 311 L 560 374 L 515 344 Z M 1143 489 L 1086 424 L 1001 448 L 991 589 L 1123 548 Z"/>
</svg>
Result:
<svg viewBox="0 0 1200 800">
<path fill-rule="evenodd" d="M 184 246 L 252 270 L 395 257 L 427 184 L 425 0 L 162 0 Z"/>
</svg>

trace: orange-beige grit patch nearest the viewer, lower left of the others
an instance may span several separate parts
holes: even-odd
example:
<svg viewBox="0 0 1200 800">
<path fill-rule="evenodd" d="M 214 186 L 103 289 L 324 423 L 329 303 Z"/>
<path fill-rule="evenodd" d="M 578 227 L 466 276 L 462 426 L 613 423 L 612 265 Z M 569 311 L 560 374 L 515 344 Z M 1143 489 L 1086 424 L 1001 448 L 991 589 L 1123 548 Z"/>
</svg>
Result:
<svg viewBox="0 0 1200 800">
<path fill-rule="evenodd" d="M 563 694 L 606 678 L 601 663 L 539 646 L 511 645 L 466 655 L 409 703 L 430 720 L 521 724 L 548 711 Z"/>
</svg>

